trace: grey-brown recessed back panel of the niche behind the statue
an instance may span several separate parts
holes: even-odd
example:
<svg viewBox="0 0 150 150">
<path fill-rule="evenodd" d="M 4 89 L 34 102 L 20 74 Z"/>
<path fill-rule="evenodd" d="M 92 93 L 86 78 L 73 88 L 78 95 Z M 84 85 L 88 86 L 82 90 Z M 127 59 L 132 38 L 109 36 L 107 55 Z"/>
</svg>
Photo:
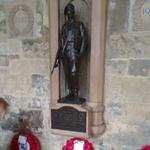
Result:
<svg viewBox="0 0 150 150">
<path fill-rule="evenodd" d="M 69 0 L 61 0 L 60 1 L 60 32 L 62 30 L 62 26 L 65 23 L 65 17 L 64 17 L 64 8 L 68 4 Z M 88 49 L 86 50 L 86 53 L 84 53 L 84 56 L 82 57 L 82 61 L 80 61 L 79 65 L 79 95 L 81 97 L 85 97 L 88 101 L 88 78 L 89 78 L 89 54 L 90 54 L 90 31 L 91 31 L 91 12 L 90 12 L 90 0 L 87 0 L 87 3 L 81 1 L 81 0 L 75 0 L 72 2 L 72 4 L 75 6 L 75 20 L 82 21 L 86 32 L 88 33 Z M 65 79 L 64 70 L 61 64 L 60 68 L 60 95 L 61 97 L 64 97 L 68 95 L 69 91 L 67 88 L 67 83 Z"/>
</svg>

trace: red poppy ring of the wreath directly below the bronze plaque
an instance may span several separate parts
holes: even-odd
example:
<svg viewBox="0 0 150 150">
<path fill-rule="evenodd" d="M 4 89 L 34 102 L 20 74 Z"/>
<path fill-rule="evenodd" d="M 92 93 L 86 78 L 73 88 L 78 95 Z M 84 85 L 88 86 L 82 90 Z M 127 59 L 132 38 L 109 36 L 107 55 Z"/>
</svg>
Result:
<svg viewBox="0 0 150 150">
<path fill-rule="evenodd" d="M 84 138 L 74 137 L 66 142 L 66 145 L 63 146 L 62 150 L 73 150 L 74 149 L 74 141 L 84 141 L 84 150 L 94 150 L 93 145 Z"/>
</svg>

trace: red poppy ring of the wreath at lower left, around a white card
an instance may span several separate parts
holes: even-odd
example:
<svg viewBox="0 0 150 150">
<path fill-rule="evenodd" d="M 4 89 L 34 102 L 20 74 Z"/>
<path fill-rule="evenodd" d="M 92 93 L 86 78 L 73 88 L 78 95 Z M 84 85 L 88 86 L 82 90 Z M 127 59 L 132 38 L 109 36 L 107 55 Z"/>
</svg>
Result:
<svg viewBox="0 0 150 150">
<path fill-rule="evenodd" d="M 19 134 L 16 134 L 10 144 L 10 150 L 19 150 L 19 136 L 23 135 L 27 138 L 27 142 L 30 146 L 30 150 L 40 150 L 40 142 L 38 138 L 28 129 L 21 131 Z"/>
</svg>

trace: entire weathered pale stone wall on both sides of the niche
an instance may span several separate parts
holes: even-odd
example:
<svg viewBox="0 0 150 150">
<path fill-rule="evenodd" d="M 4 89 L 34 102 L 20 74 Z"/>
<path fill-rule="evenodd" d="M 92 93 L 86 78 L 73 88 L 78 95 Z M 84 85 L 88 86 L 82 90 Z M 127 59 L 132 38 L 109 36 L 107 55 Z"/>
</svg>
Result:
<svg viewBox="0 0 150 150">
<path fill-rule="evenodd" d="M 109 0 L 107 128 L 103 136 L 90 139 L 95 150 L 137 150 L 150 141 L 149 6 L 149 0 Z M 9 149 L 20 117 L 29 121 L 43 150 L 61 150 L 69 137 L 50 133 L 49 77 L 48 0 L 1 0 L 0 97 L 7 100 L 10 110 L 0 121 L 0 150 Z"/>
</svg>

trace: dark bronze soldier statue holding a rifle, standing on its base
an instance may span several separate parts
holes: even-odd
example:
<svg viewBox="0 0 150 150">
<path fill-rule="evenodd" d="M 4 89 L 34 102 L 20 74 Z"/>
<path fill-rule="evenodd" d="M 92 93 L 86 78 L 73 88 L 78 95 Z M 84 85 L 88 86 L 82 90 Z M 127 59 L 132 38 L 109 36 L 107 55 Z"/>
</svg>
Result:
<svg viewBox="0 0 150 150">
<path fill-rule="evenodd" d="M 79 92 L 79 59 L 87 49 L 87 34 L 84 24 L 75 20 L 74 5 L 69 3 L 64 10 L 66 18 L 60 35 L 60 48 L 57 52 L 54 67 L 62 61 L 69 94 L 58 102 L 81 104 L 84 98 Z M 53 72 L 53 70 L 52 70 Z"/>
</svg>

